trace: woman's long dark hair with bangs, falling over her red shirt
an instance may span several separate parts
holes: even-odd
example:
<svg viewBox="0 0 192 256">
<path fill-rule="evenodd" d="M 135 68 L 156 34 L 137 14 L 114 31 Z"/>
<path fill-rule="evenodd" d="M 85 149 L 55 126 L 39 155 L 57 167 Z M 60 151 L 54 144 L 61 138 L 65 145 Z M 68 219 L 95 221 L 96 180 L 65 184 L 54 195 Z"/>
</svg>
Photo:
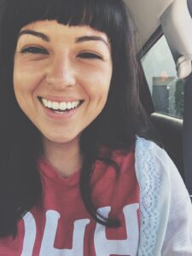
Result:
<svg viewBox="0 0 192 256">
<path fill-rule="evenodd" d="M 15 46 L 20 28 L 36 20 L 57 20 L 69 26 L 88 25 L 105 32 L 112 47 L 113 75 L 102 113 L 80 138 L 84 163 L 80 191 L 84 205 L 97 222 L 90 179 L 96 160 L 115 167 L 99 148 L 130 150 L 136 135 L 145 136 L 146 117 L 137 95 L 137 60 L 134 26 L 122 0 L 4 0 L 0 27 L 0 236 L 16 234 L 17 221 L 40 199 L 42 186 L 37 159 L 41 135 L 20 110 L 13 90 Z"/>
</svg>

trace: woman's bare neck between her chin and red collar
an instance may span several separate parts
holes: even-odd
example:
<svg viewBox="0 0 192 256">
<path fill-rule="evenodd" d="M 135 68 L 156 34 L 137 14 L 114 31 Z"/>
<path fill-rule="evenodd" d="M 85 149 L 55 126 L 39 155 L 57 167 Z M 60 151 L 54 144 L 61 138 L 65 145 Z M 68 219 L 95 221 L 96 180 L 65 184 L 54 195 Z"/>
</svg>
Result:
<svg viewBox="0 0 192 256">
<path fill-rule="evenodd" d="M 44 156 L 62 177 L 68 177 L 82 166 L 79 140 L 53 143 L 44 138 Z"/>
</svg>

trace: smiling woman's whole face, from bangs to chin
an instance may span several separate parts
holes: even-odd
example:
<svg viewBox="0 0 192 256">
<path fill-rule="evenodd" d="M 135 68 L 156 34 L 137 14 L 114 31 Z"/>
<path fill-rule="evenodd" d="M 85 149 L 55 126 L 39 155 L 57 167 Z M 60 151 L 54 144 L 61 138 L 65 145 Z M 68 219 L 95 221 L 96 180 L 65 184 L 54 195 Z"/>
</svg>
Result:
<svg viewBox="0 0 192 256">
<path fill-rule="evenodd" d="M 89 26 L 37 21 L 20 30 L 14 66 L 20 108 L 44 138 L 78 138 L 105 106 L 112 77 L 108 37 Z"/>
</svg>

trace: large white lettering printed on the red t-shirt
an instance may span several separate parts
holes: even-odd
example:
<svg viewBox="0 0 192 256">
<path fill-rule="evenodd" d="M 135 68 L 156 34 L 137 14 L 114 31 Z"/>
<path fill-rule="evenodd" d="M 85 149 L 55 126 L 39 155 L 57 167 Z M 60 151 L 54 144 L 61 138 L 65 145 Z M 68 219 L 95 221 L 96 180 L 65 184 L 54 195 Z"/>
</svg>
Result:
<svg viewBox="0 0 192 256">
<path fill-rule="evenodd" d="M 137 209 L 139 205 L 131 204 L 123 208 L 125 216 L 125 229 L 127 238 L 125 240 L 108 240 L 106 237 L 106 227 L 102 224 L 96 224 L 94 234 L 94 243 L 96 256 L 115 255 L 137 255 L 138 247 L 138 221 Z M 99 212 L 110 212 L 111 207 L 102 207 Z M 28 216 L 27 216 L 28 215 Z M 106 215 L 105 215 L 106 216 Z M 84 232 L 90 219 L 84 218 L 74 221 L 73 229 L 73 247 L 70 249 L 58 249 L 54 247 L 55 236 L 58 226 L 58 220 L 61 217 L 59 212 L 49 210 L 46 212 L 46 221 L 44 236 L 41 243 L 39 256 L 84 256 Z M 32 251 L 37 236 L 35 219 L 31 212 L 28 212 L 23 218 L 25 224 L 25 236 L 21 256 L 32 256 Z"/>
</svg>

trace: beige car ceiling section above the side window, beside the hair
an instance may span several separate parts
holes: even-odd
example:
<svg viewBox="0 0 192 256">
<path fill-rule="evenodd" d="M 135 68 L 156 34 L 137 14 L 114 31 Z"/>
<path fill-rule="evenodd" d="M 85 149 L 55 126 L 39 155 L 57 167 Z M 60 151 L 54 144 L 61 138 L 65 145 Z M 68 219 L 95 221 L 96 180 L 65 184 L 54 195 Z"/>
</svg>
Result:
<svg viewBox="0 0 192 256">
<path fill-rule="evenodd" d="M 160 26 L 160 16 L 174 0 L 124 0 L 133 16 L 141 44 Z M 182 1 L 182 0 L 181 0 Z M 142 46 L 141 45 L 141 46 Z"/>
</svg>

